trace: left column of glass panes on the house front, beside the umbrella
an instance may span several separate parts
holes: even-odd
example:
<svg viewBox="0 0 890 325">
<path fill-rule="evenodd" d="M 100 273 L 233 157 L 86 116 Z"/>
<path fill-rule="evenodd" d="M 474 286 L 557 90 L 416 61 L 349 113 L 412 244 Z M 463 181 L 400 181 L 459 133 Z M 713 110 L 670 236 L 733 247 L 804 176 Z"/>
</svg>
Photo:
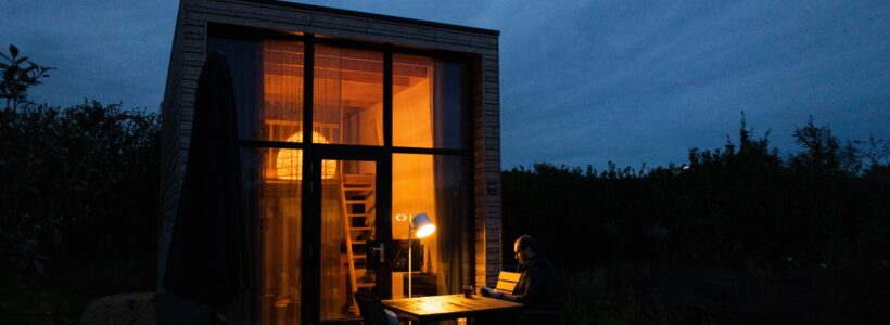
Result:
<svg viewBox="0 0 890 325">
<path fill-rule="evenodd" d="M 211 38 L 207 48 L 223 52 L 229 64 L 239 138 L 302 142 L 303 43 Z M 303 151 L 268 147 L 242 153 L 246 203 L 260 236 L 262 324 L 298 324 Z"/>
</svg>

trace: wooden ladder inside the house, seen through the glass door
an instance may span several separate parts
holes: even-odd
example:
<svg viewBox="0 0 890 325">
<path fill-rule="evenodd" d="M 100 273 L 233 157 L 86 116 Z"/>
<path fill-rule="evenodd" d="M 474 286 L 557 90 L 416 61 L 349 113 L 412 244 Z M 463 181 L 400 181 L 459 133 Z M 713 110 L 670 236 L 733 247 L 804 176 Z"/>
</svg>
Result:
<svg viewBox="0 0 890 325">
<path fill-rule="evenodd" d="M 359 289 L 369 290 L 374 287 L 374 278 L 356 275 L 356 268 L 367 268 L 367 252 L 355 253 L 356 247 L 361 251 L 367 249 L 366 244 L 374 236 L 374 212 L 377 208 L 377 191 L 373 174 L 343 173 L 340 181 L 340 202 L 343 208 L 343 227 L 346 234 L 346 263 L 349 268 L 349 285 L 352 294 Z M 358 315 L 355 295 L 349 310 Z"/>
</svg>

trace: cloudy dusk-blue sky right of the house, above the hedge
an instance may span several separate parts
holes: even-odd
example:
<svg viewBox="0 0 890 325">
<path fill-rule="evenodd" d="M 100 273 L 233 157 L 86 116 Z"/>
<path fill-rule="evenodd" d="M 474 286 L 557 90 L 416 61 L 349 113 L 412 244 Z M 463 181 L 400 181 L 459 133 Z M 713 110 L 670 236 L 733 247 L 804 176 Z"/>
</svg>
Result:
<svg viewBox="0 0 890 325">
<path fill-rule="evenodd" d="M 840 1 L 622 2 L 561 11 L 546 21 L 574 31 L 522 50 L 505 32 L 505 166 L 681 162 L 686 148 L 735 135 L 740 110 L 784 150 L 809 115 L 841 136 L 888 138 L 874 122 L 889 120 L 874 108 L 888 107 L 886 12 Z"/>
</svg>

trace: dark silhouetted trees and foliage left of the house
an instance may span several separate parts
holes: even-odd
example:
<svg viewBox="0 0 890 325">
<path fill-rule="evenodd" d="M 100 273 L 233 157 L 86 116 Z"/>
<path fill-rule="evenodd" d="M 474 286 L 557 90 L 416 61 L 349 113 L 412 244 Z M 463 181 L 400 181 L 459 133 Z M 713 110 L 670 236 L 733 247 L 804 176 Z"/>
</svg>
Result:
<svg viewBox="0 0 890 325">
<path fill-rule="evenodd" d="M 49 68 L 14 46 L 10 54 L 0 66 L 0 272 L 34 280 L 93 257 L 153 263 L 158 115 L 96 101 L 35 104 L 27 91 Z"/>
</svg>

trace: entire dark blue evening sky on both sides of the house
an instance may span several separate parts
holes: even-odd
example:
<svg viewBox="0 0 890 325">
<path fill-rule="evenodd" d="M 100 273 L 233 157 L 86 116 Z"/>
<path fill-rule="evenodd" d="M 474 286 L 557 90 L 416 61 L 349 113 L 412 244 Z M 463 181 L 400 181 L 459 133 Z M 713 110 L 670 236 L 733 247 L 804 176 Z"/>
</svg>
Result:
<svg viewBox="0 0 890 325">
<path fill-rule="evenodd" d="M 500 30 L 504 168 L 682 164 L 741 110 L 786 153 L 808 116 L 890 139 L 890 1 L 306 3 Z M 177 5 L 4 0 L 0 47 L 58 68 L 39 102 L 156 110 Z"/>
</svg>

